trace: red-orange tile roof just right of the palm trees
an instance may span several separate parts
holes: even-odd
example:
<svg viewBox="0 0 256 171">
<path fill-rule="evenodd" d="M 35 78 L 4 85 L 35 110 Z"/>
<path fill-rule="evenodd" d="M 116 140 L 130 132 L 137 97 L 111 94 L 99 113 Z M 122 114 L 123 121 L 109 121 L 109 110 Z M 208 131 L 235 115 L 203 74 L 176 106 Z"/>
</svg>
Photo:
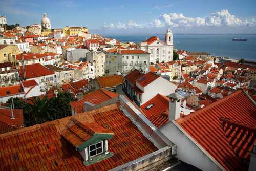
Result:
<svg viewBox="0 0 256 171">
<path fill-rule="evenodd" d="M 93 92 L 87 93 L 83 96 L 83 99 L 78 101 L 70 102 L 71 107 L 74 109 L 76 113 L 83 112 L 84 102 L 88 101 L 92 104 L 100 104 L 104 101 L 110 100 L 112 98 L 117 97 L 119 94 L 115 92 L 111 92 L 104 89 L 95 90 Z"/>
</svg>

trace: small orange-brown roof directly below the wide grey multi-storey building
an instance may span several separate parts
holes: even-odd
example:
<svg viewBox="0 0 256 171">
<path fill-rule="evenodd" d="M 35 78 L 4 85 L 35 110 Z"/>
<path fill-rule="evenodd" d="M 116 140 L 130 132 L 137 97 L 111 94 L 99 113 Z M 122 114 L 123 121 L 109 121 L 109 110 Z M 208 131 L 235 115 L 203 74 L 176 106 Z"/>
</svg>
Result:
<svg viewBox="0 0 256 171">
<path fill-rule="evenodd" d="M 122 75 L 98 77 L 97 79 L 101 88 L 118 86 L 124 82 L 124 77 Z"/>
</svg>

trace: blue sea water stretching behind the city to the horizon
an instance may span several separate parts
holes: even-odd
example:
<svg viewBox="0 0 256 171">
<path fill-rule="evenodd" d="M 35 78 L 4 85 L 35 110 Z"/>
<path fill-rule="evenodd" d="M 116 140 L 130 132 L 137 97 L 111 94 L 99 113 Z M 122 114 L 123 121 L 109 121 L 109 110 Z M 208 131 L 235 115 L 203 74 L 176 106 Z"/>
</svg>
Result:
<svg viewBox="0 0 256 171">
<path fill-rule="evenodd" d="M 115 36 L 108 35 L 122 42 L 139 43 L 151 36 L 164 34 Z M 247 41 L 232 41 L 234 37 L 246 38 Z M 244 58 L 256 61 L 256 34 L 174 34 L 174 48 L 187 51 L 204 51 L 215 56 Z"/>
</svg>

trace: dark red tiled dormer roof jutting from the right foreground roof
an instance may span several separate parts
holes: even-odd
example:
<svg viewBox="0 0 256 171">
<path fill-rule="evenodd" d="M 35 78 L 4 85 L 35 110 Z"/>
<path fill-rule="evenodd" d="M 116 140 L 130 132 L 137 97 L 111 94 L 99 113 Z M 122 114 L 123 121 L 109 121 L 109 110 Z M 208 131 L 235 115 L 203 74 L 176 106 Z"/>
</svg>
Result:
<svg viewBox="0 0 256 171">
<path fill-rule="evenodd" d="M 234 153 L 241 159 L 250 161 L 250 152 L 256 143 L 256 125 L 246 126 L 229 119 L 220 118 L 223 131 Z"/>
</svg>

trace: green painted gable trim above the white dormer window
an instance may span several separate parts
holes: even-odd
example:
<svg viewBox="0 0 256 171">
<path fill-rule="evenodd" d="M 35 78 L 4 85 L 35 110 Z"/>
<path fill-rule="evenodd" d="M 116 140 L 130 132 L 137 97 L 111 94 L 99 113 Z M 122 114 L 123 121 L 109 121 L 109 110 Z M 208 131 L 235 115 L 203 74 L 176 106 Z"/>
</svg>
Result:
<svg viewBox="0 0 256 171">
<path fill-rule="evenodd" d="M 90 138 L 89 140 L 87 140 L 86 142 L 84 142 L 83 144 L 81 144 L 80 146 L 77 147 L 78 151 L 81 152 L 83 151 L 84 148 L 95 144 L 97 142 L 100 141 L 104 141 L 104 140 L 108 140 L 108 139 L 112 139 L 114 136 L 114 134 L 99 134 L 99 133 L 95 133 L 93 135 L 92 138 Z"/>
</svg>

